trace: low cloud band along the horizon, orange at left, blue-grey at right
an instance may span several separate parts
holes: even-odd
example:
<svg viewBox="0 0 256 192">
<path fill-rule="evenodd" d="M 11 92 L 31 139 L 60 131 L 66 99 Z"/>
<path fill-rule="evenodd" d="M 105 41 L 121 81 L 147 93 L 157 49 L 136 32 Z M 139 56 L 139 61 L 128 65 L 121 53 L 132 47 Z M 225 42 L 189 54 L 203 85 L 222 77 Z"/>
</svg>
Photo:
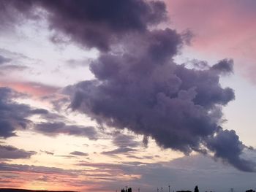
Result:
<svg viewBox="0 0 256 192">
<path fill-rule="evenodd" d="M 255 158 L 255 153 L 247 155 Z M 255 173 L 239 172 L 233 167 L 212 161 L 208 155 L 189 155 L 170 162 L 152 164 L 141 161 L 124 161 L 121 164 L 80 161 L 75 169 L 0 162 L 0 172 L 0 181 L 8 186 L 26 183 L 29 177 L 33 182 L 39 181 L 47 185 L 63 183 L 85 190 L 86 187 L 93 186 L 91 191 L 115 191 L 125 186 L 127 181 L 132 188 L 140 187 L 143 191 L 148 191 L 153 186 L 167 188 L 169 183 L 175 191 L 192 189 L 195 185 L 199 186 L 200 191 L 227 191 L 230 186 L 237 191 L 245 191 L 253 188 L 255 181 Z M 122 175 L 129 176 L 129 179 L 121 177 Z"/>
</svg>

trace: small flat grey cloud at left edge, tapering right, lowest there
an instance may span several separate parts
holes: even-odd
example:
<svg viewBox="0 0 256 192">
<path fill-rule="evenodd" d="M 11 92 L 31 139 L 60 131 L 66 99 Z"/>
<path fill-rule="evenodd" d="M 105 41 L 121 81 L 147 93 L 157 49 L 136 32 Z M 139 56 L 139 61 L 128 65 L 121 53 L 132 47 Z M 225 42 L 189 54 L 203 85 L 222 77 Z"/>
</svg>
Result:
<svg viewBox="0 0 256 192">
<path fill-rule="evenodd" d="M 36 154 L 35 151 L 21 150 L 10 145 L 0 145 L 0 158 L 1 159 L 17 159 L 17 158 L 30 158 L 31 155 Z"/>
</svg>

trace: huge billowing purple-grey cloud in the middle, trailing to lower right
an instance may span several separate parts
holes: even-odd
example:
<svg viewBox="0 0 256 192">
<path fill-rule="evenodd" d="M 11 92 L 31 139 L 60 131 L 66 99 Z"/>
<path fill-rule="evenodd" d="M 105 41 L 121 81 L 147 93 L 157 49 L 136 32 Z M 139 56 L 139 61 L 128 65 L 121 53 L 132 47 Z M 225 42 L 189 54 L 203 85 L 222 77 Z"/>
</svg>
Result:
<svg viewBox="0 0 256 192">
<path fill-rule="evenodd" d="M 238 137 L 221 127 L 222 107 L 235 96 L 231 88 L 222 88 L 219 78 L 232 72 L 232 61 L 207 69 L 178 65 L 172 58 L 181 39 L 170 28 L 146 31 L 122 40 L 118 53 L 101 53 L 90 64 L 96 79 L 67 88 L 67 93 L 75 93 L 72 109 L 103 126 L 152 137 L 163 148 L 185 154 L 212 151 L 240 170 L 254 171 L 255 165 L 241 158 L 245 146 L 239 140 L 231 142 Z M 230 153 L 221 153 L 217 144 Z"/>
</svg>

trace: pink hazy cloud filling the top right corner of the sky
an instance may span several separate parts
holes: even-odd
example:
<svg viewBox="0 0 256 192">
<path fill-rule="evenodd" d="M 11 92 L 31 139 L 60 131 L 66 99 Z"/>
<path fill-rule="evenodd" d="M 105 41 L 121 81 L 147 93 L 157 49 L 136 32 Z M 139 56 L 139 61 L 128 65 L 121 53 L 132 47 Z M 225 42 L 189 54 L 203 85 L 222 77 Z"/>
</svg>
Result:
<svg viewBox="0 0 256 192">
<path fill-rule="evenodd" d="M 256 82 L 256 1 L 165 1 L 174 28 L 195 34 L 192 51 L 234 58 L 236 69 Z"/>
</svg>

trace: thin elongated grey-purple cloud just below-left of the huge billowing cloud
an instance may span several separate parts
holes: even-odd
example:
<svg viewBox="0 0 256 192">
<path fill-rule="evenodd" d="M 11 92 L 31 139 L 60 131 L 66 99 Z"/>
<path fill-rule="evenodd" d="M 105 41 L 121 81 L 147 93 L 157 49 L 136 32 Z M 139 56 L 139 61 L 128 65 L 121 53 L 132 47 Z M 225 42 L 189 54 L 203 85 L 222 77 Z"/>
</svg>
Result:
<svg viewBox="0 0 256 192">
<path fill-rule="evenodd" d="M 47 122 L 38 123 L 34 131 L 38 131 L 41 134 L 48 135 L 50 137 L 56 137 L 58 134 L 67 134 L 80 137 L 88 137 L 89 139 L 97 139 L 97 131 L 92 126 L 75 126 L 66 125 L 63 122 Z"/>
</svg>

